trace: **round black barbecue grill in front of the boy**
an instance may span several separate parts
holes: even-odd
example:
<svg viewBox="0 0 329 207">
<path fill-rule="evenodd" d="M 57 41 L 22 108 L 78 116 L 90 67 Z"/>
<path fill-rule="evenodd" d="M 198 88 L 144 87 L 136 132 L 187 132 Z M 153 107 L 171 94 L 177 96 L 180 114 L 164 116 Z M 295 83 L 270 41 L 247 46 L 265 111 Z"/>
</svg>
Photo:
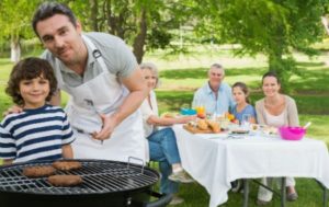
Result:
<svg viewBox="0 0 329 207">
<path fill-rule="evenodd" d="M 159 180 L 157 171 L 147 166 L 109 160 L 75 160 L 81 169 L 58 170 L 56 174 L 80 175 L 82 184 L 55 187 L 47 177 L 29 179 L 22 174 L 26 166 L 50 165 L 52 161 L 34 161 L 0 166 L 1 207 L 27 206 L 97 206 L 97 207 L 162 207 L 170 195 L 151 191 Z M 149 202 L 150 196 L 158 199 Z"/>
</svg>

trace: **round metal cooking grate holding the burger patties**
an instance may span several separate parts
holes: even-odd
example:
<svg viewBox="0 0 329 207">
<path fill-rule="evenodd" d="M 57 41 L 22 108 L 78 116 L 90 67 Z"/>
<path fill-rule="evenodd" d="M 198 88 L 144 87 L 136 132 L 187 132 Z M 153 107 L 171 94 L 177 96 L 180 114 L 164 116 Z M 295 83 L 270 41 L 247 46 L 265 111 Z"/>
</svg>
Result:
<svg viewBox="0 0 329 207">
<path fill-rule="evenodd" d="M 83 183 L 72 187 L 55 187 L 47 177 L 29 179 L 22 174 L 26 166 L 49 165 L 52 162 L 30 162 L 0 168 L 0 192 L 80 195 L 117 193 L 139 189 L 155 184 L 159 175 L 156 171 L 125 162 L 109 160 L 77 160 L 82 163 L 79 170 L 57 171 L 56 174 L 80 175 Z"/>
</svg>

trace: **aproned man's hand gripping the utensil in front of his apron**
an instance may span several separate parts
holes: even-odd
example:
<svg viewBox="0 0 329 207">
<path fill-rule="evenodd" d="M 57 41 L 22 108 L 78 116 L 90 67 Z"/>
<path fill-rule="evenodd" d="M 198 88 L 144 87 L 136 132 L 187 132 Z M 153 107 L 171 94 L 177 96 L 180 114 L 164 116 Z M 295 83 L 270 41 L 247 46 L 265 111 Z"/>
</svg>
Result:
<svg viewBox="0 0 329 207">
<path fill-rule="evenodd" d="M 117 125 L 115 116 L 106 116 L 105 114 L 100 115 L 102 118 L 103 127 L 99 133 L 93 133 L 92 138 L 98 140 L 104 140 L 111 138 L 114 128 Z"/>
</svg>

